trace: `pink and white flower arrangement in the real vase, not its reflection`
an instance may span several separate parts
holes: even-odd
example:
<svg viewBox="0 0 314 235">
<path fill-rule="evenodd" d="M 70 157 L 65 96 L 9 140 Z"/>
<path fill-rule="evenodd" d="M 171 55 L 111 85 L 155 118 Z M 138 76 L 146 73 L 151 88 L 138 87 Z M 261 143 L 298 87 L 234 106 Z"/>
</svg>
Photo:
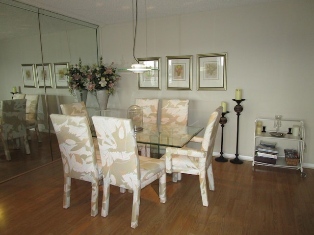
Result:
<svg viewBox="0 0 314 235">
<path fill-rule="evenodd" d="M 106 66 L 103 57 L 100 58 L 100 66 L 93 65 L 87 72 L 85 87 L 88 91 L 96 93 L 97 90 L 106 90 L 107 94 L 114 94 L 115 86 L 120 75 L 116 73 L 113 62 Z"/>
</svg>

